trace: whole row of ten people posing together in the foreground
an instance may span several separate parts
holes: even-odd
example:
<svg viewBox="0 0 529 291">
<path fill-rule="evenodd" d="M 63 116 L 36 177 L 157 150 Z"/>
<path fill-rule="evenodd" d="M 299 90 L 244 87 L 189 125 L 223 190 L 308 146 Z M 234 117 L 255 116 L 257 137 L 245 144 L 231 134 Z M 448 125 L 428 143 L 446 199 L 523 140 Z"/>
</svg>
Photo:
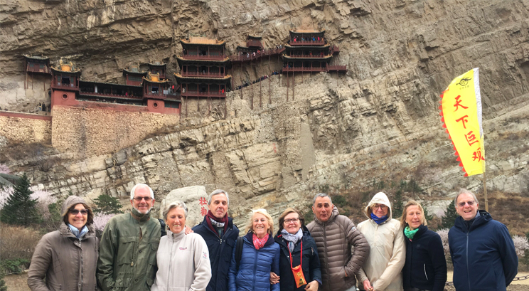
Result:
<svg viewBox="0 0 529 291">
<path fill-rule="evenodd" d="M 63 203 L 63 223 L 38 243 L 28 273 L 31 290 L 365 291 L 444 290 L 442 240 L 430 231 L 417 201 L 392 218 L 386 194 L 373 196 L 356 226 L 331 197 L 316 194 L 314 220 L 287 208 L 279 229 L 265 209 L 253 211 L 245 235 L 228 216 L 223 190 L 208 197 L 208 213 L 192 230 L 188 208 L 174 201 L 162 221 L 152 218 L 154 192 L 131 190 L 129 213 L 114 216 L 97 240 L 90 206 L 77 196 Z M 461 189 L 459 217 L 449 231 L 456 290 L 506 290 L 518 257 L 506 226 L 478 210 Z"/>
</svg>

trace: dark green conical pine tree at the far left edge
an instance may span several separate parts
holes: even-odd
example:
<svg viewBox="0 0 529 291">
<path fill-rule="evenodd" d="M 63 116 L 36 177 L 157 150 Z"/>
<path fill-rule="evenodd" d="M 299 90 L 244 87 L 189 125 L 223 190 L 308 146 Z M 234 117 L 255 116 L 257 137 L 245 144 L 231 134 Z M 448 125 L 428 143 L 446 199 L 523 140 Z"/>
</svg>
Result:
<svg viewBox="0 0 529 291">
<path fill-rule="evenodd" d="M 13 195 L 9 196 L 2 208 L 0 216 L 2 222 L 19 226 L 41 222 L 36 208 L 37 199 L 31 199 L 33 191 L 29 189 L 29 186 L 28 176 L 24 173 L 17 181 Z"/>
</svg>

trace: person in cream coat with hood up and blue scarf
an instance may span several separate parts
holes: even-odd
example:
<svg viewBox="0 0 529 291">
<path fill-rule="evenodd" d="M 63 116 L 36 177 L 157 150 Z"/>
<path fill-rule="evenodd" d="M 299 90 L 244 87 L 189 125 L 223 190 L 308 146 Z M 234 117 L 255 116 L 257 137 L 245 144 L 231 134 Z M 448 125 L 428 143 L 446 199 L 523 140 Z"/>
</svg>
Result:
<svg viewBox="0 0 529 291">
<path fill-rule="evenodd" d="M 358 229 L 370 245 L 369 257 L 358 271 L 358 285 L 366 291 L 402 291 L 402 268 L 406 245 L 400 221 L 391 218 L 391 204 L 386 194 L 373 196 L 365 208 L 367 221 Z"/>
</svg>

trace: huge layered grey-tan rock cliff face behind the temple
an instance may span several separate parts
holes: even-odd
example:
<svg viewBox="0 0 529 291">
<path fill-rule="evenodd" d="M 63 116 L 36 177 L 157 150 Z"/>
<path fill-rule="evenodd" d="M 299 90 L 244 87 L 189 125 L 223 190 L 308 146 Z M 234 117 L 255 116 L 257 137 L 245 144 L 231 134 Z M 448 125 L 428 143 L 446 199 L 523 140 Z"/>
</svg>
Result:
<svg viewBox="0 0 529 291">
<path fill-rule="evenodd" d="M 326 186 L 362 189 L 381 179 L 413 176 L 424 194 L 441 199 L 460 186 L 477 190 L 481 181 L 463 179 L 456 166 L 437 107 L 452 78 L 479 67 L 488 185 L 527 194 L 528 4 L 7 1 L 0 4 L 0 106 L 32 111 L 49 102 L 49 80 L 36 78 L 41 85 L 23 89 L 23 53 L 73 60 L 84 68 L 84 80 L 122 82 L 121 70 L 130 63 L 164 60 L 169 73 L 176 72 L 179 39 L 190 33 L 223 39 L 234 52 L 247 34 L 274 47 L 287 42 L 289 30 L 325 29 L 341 50 L 333 63 L 346 64 L 346 75 L 296 75 L 294 91 L 292 76 L 289 88 L 284 76 L 273 76 L 230 92 L 225 120 L 183 120 L 170 134 L 112 155 L 78 160 L 57 154 L 63 162 L 36 169 L 36 182 L 92 197 L 127 196 L 140 181 L 161 196 L 205 184 L 207 191 L 233 193 L 235 215 L 254 206 L 277 214 L 286 205 L 304 206 Z M 234 83 L 277 68 L 273 60 L 234 68 Z M 10 163 L 33 169 L 31 161 Z"/>
</svg>

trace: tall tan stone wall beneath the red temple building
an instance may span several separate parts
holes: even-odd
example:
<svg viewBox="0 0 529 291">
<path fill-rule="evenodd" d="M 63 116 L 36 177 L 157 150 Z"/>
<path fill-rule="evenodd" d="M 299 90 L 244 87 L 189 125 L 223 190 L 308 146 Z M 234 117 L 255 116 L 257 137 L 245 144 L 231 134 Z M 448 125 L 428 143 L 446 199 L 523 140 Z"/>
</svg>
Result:
<svg viewBox="0 0 529 291">
<path fill-rule="evenodd" d="M 108 154 L 130 147 L 165 127 L 178 115 L 54 106 L 52 145 L 81 156 Z"/>
</svg>

